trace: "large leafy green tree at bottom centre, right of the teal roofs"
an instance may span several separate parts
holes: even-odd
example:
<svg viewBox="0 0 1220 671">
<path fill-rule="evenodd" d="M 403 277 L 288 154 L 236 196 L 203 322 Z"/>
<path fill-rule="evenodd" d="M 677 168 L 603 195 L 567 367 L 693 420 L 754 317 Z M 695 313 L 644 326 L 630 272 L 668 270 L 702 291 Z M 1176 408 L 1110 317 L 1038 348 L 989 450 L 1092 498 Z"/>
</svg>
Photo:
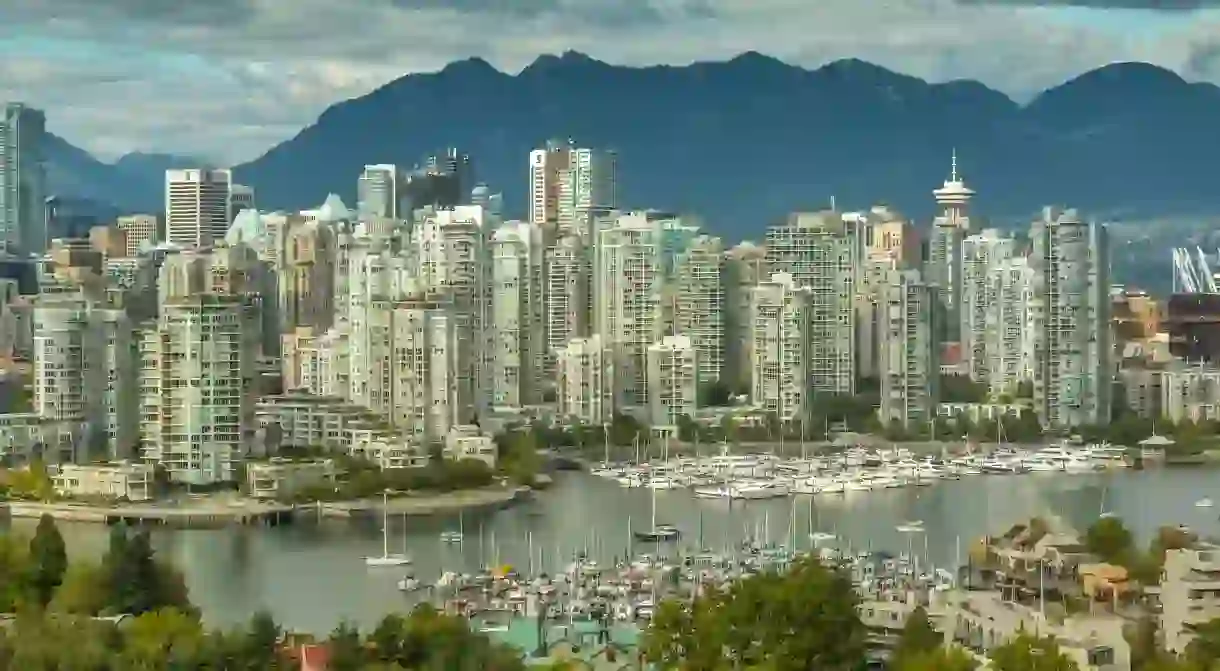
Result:
<svg viewBox="0 0 1220 671">
<path fill-rule="evenodd" d="M 787 572 L 759 573 L 691 604 L 666 601 L 643 650 L 662 669 L 688 671 L 856 669 L 866 631 L 855 609 L 850 578 L 805 559 Z"/>
</svg>

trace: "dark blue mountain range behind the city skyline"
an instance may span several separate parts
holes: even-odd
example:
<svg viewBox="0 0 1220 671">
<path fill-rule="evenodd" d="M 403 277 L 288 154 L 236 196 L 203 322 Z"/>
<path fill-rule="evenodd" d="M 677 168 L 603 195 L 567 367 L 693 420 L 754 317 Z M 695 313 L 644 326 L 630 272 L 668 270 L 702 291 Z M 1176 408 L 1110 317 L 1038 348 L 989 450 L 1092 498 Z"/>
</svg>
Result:
<svg viewBox="0 0 1220 671">
<path fill-rule="evenodd" d="M 336 192 L 354 201 L 366 163 L 414 165 L 458 146 L 481 181 L 525 211 L 529 149 L 549 138 L 619 151 L 620 200 L 703 215 L 756 235 L 784 212 L 887 203 L 917 217 L 950 151 L 982 212 L 1022 220 L 1044 204 L 1099 216 L 1220 207 L 1220 88 L 1147 63 L 1114 63 L 1027 104 L 974 81 L 928 83 L 859 60 L 816 70 L 756 52 L 722 62 L 622 67 L 583 54 L 517 74 L 479 59 L 409 74 L 326 110 L 296 137 L 235 167 L 262 209 Z M 98 161 L 60 138 L 56 193 L 161 209 L 167 155 Z"/>
</svg>

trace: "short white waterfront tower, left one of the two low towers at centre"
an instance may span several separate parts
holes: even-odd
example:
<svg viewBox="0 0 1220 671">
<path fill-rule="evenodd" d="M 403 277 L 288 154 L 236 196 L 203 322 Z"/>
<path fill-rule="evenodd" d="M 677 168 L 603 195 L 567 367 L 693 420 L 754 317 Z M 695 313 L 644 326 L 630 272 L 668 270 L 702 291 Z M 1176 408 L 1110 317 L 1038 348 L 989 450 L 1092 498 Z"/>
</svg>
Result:
<svg viewBox="0 0 1220 671">
<path fill-rule="evenodd" d="M 587 425 L 614 417 L 611 353 L 600 336 L 573 338 L 556 353 L 559 415 Z"/>
</svg>

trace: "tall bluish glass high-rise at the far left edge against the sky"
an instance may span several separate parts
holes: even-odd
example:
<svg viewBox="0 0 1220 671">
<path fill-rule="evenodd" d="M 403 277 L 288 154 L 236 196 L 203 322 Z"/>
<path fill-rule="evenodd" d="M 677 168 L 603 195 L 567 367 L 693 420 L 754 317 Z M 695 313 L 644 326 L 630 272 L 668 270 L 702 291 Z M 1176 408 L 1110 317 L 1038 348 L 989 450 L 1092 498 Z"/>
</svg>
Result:
<svg viewBox="0 0 1220 671">
<path fill-rule="evenodd" d="M 21 102 L 0 117 L 0 255 L 46 249 L 46 115 Z"/>
</svg>

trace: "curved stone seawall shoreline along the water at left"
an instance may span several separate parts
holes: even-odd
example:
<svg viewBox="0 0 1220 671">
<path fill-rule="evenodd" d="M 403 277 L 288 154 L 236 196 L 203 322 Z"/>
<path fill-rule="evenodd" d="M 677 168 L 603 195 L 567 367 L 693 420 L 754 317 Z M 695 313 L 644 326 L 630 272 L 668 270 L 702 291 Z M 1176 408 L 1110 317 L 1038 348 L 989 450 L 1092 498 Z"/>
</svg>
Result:
<svg viewBox="0 0 1220 671">
<path fill-rule="evenodd" d="M 505 508 L 528 497 L 531 489 L 486 488 L 444 494 L 406 495 L 389 499 L 388 515 L 427 516 L 462 511 Z M 281 526 L 323 518 L 353 520 L 381 514 L 382 501 L 357 499 L 350 501 L 318 501 L 310 504 L 277 504 L 244 498 L 210 498 L 178 503 L 149 501 L 143 504 L 96 505 L 76 501 L 0 503 L 0 516 L 10 520 L 38 520 L 50 515 L 57 522 L 85 522 L 133 526 L 166 526 L 176 528 L 220 528 L 227 526 Z"/>
</svg>

